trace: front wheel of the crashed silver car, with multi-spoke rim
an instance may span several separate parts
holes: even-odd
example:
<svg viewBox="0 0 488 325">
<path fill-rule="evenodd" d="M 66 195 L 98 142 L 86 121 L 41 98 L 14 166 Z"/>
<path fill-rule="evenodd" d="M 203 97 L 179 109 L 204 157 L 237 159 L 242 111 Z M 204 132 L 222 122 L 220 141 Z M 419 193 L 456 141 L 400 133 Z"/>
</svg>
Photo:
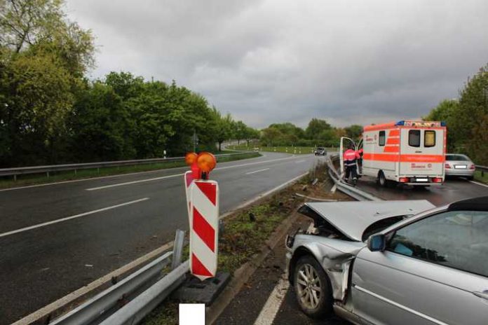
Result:
<svg viewBox="0 0 488 325">
<path fill-rule="evenodd" d="M 319 318 L 333 312 L 329 277 L 313 256 L 299 258 L 293 270 L 293 284 L 297 303 L 306 315 Z"/>
</svg>

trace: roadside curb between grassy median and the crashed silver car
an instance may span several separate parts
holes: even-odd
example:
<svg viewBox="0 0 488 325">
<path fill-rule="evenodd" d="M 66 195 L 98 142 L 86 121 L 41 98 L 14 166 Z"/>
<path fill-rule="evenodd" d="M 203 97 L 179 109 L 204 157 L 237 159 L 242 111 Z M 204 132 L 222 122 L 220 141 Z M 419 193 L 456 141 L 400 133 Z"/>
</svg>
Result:
<svg viewBox="0 0 488 325">
<path fill-rule="evenodd" d="M 248 282 L 250 277 L 259 268 L 264 259 L 273 251 L 280 239 L 292 228 L 293 223 L 297 222 L 299 214 L 294 212 L 287 219 L 282 221 L 276 230 L 271 234 L 269 240 L 266 240 L 261 252 L 256 254 L 250 261 L 243 264 L 234 272 L 233 277 L 226 288 L 220 293 L 210 307 L 206 307 L 205 324 L 213 324 L 217 318 L 224 312 L 231 300 L 242 289 L 243 285 Z"/>
</svg>

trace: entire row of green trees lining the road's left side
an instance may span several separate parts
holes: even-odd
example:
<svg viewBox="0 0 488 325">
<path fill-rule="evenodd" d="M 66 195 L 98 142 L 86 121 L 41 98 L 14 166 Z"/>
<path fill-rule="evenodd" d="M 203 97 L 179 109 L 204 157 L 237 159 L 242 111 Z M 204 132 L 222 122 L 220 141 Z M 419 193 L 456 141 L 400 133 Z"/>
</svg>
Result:
<svg viewBox="0 0 488 325">
<path fill-rule="evenodd" d="M 62 1 L 0 1 L 0 167 L 182 155 L 194 134 L 210 151 L 258 137 L 174 81 L 89 81 L 94 51 Z"/>
</svg>

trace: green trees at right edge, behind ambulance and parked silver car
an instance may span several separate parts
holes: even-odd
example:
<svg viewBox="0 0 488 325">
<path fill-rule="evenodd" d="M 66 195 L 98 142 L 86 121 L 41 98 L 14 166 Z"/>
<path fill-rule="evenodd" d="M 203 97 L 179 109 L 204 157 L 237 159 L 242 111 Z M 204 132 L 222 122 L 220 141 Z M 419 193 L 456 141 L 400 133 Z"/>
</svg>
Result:
<svg viewBox="0 0 488 325">
<path fill-rule="evenodd" d="M 488 65 L 468 78 L 459 99 L 445 99 L 424 120 L 447 123 L 447 147 L 488 165 Z"/>
</svg>

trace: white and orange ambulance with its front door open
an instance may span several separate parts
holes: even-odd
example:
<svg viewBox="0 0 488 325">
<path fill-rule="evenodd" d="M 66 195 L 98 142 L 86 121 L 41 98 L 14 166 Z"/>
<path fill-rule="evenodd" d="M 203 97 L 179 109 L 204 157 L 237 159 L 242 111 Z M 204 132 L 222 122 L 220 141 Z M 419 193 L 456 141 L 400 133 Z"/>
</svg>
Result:
<svg viewBox="0 0 488 325">
<path fill-rule="evenodd" d="M 362 139 L 341 138 L 341 153 L 353 144 L 362 148 L 358 174 L 374 177 L 380 186 L 408 184 L 428 186 L 442 184 L 445 179 L 447 128 L 444 122 L 400 120 L 367 125 Z M 341 171 L 344 161 L 341 154 Z"/>
</svg>

